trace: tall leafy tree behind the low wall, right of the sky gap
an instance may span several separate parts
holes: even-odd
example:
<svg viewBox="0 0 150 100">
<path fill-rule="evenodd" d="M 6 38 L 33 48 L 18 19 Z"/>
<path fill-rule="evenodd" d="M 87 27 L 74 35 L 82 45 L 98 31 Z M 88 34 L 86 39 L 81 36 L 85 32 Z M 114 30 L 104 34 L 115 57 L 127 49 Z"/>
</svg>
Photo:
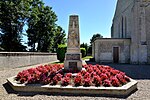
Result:
<svg viewBox="0 0 150 100">
<path fill-rule="evenodd" d="M 55 35 L 56 14 L 51 7 L 40 3 L 33 7 L 31 18 L 28 20 L 28 46 L 35 51 L 35 43 L 38 43 L 37 51 L 47 52 L 52 49 Z"/>
</svg>

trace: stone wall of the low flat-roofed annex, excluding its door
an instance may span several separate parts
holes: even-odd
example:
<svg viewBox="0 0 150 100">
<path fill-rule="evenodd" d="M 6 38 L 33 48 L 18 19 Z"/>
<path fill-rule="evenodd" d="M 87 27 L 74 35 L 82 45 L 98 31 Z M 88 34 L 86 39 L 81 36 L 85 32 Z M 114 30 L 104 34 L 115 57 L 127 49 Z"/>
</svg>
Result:
<svg viewBox="0 0 150 100">
<path fill-rule="evenodd" d="M 96 62 L 113 63 L 113 47 L 119 47 L 119 63 L 130 63 L 130 39 L 102 38 L 93 42 Z"/>
</svg>

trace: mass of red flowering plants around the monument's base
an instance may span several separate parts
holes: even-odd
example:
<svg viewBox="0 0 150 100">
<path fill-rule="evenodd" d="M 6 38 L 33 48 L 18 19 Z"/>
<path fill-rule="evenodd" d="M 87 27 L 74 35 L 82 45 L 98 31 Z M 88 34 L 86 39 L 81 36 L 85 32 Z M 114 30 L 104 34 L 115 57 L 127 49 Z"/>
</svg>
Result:
<svg viewBox="0 0 150 100">
<path fill-rule="evenodd" d="M 22 84 L 50 84 L 61 86 L 121 87 L 130 82 L 125 73 L 105 65 L 83 65 L 76 76 L 64 73 L 63 64 L 49 64 L 19 72 L 15 80 Z"/>
</svg>

